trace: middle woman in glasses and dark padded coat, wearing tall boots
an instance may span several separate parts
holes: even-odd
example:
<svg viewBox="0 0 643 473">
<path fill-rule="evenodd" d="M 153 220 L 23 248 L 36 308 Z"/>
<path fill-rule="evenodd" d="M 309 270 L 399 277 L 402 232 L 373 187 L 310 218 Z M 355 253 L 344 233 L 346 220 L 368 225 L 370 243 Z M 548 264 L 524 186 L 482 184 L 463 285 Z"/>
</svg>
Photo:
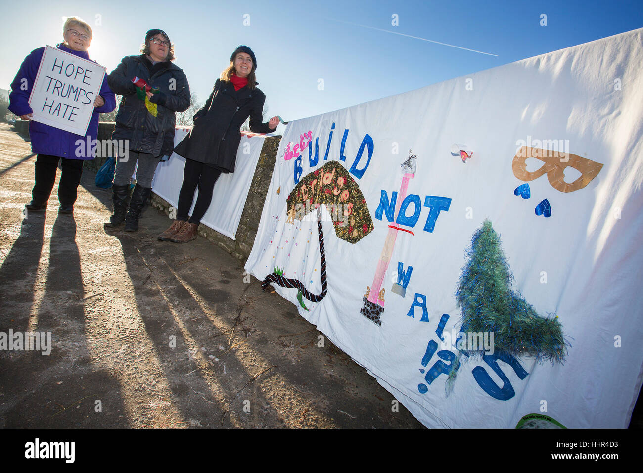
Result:
<svg viewBox="0 0 643 473">
<path fill-rule="evenodd" d="M 156 28 L 145 33 L 141 53 L 124 57 L 107 78 L 112 90 L 123 96 L 112 140 L 126 140 L 129 149 L 127 156 L 116 161 L 114 214 L 105 225 L 118 227 L 125 220 L 128 232 L 138 230 L 138 219 L 150 198 L 152 179 L 161 156 L 172 154 L 176 112 L 190 107 L 188 79 L 183 70 L 172 63 L 174 45 L 167 33 Z M 143 83 L 156 88 L 156 92 L 146 91 Z M 135 166 L 136 187 L 128 203 L 129 182 Z"/>
</svg>

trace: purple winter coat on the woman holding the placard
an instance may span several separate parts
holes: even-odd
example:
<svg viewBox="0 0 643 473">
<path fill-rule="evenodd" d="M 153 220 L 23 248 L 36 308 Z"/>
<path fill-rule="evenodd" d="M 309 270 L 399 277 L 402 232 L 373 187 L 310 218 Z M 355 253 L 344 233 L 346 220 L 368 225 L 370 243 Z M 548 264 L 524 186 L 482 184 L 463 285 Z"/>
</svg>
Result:
<svg viewBox="0 0 643 473">
<path fill-rule="evenodd" d="M 87 54 L 86 51 L 73 51 L 64 44 L 59 44 L 58 49 L 89 60 L 89 54 Z M 33 82 L 36 79 L 43 54 L 44 48 L 38 48 L 24 58 L 20 70 L 15 75 L 14 82 L 11 83 L 12 92 L 9 94 L 9 110 L 15 113 L 15 115 L 21 116 L 33 113 L 33 110 L 29 106 L 29 95 L 33 87 Z M 27 79 L 26 90 L 21 88 L 23 78 Z M 91 120 L 89 120 L 87 136 L 89 136 L 90 142 L 98 136 L 98 115 L 100 113 L 109 113 L 116 108 L 116 97 L 114 97 L 113 91 L 107 85 L 107 74 L 103 77 L 103 84 L 98 95 L 105 100 L 105 104 L 102 107 L 95 108 Z M 93 149 L 89 156 L 77 156 L 77 140 L 86 142 L 85 136 L 80 134 L 70 133 L 69 131 L 64 131 L 32 120 L 29 122 L 29 135 L 32 140 L 32 153 L 51 154 L 51 156 L 60 156 L 61 158 L 69 158 L 72 160 L 94 159 Z M 80 154 L 86 155 L 87 153 Z"/>
</svg>

